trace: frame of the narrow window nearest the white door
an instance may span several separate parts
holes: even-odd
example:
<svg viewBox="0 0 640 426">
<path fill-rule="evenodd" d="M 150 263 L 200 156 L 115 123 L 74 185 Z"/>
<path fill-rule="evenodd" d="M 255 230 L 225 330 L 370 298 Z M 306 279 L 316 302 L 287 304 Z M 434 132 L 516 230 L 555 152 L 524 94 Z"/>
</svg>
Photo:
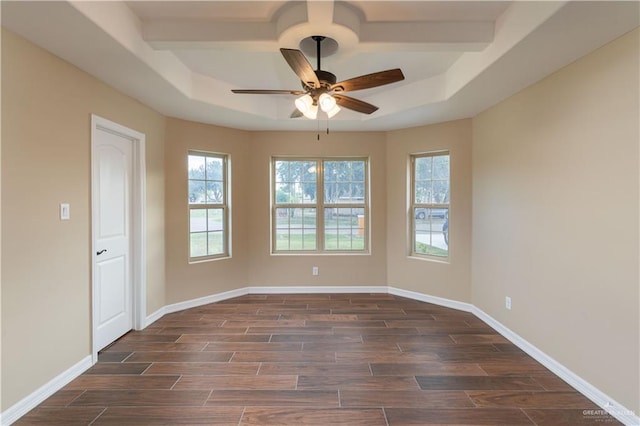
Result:
<svg viewBox="0 0 640 426">
<path fill-rule="evenodd" d="M 189 157 L 190 156 L 199 156 L 205 159 L 207 158 L 216 158 L 222 160 L 222 202 L 220 203 L 192 203 L 189 199 L 189 183 L 192 180 L 201 180 L 201 179 L 190 179 L 189 178 Z M 203 180 L 205 182 L 213 181 L 209 179 Z M 213 260 L 220 259 L 228 259 L 231 257 L 231 218 L 230 218 L 230 202 L 231 200 L 231 156 L 226 153 L 220 152 L 210 152 L 210 151 L 202 151 L 202 150 L 194 150 L 190 149 L 187 151 L 187 252 L 188 252 L 188 260 L 189 263 L 200 263 L 200 262 L 209 262 Z M 191 255 L 191 236 L 194 233 L 208 233 L 205 231 L 191 231 L 191 212 L 193 210 L 221 210 L 222 211 L 222 245 L 223 250 L 222 253 L 216 254 L 207 254 L 203 256 L 192 256 Z M 207 237 L 207 245 L 208 245 L 208 237 Z"/>
</svg>

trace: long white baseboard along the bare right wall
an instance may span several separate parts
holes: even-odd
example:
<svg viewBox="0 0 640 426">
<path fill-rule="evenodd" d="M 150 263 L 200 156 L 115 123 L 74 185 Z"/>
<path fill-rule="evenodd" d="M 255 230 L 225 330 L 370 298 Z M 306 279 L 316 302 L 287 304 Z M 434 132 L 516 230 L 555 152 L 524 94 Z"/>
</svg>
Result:
<svg viewBox="0 0 640 426">
<path fill-rule="evenodd" d="M 640 417 L 635 415 L 632 410 L 629 410 L 622 404 L 616 402 L 613 398 L 600 391 L 591 383 L 587 382 L 582 377 L 578 376 L 573 371 L 569 370 L 567 367 L 529 343 L 527 340 L 520 337 L 520 335 L 505 327 L 502 323 L 484 312 L 482 309 L 473 306 L 471 312 L 620 422 L 628 426 L 640 425 Z"/>
</svg>

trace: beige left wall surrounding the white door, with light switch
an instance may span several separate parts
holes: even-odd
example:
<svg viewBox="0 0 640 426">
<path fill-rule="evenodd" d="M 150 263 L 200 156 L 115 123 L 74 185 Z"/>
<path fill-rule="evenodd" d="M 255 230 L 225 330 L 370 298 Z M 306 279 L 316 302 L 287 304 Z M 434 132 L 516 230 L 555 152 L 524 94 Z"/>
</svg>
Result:
<svg viewBox="0 0 640 426">
<path fill-rule="evenodd" d="M 2 410 L 91 354 L 92 113 L 146 134 L 148 309 L 165 303 L 164 117 L 3 29 Z"/>
</svg>

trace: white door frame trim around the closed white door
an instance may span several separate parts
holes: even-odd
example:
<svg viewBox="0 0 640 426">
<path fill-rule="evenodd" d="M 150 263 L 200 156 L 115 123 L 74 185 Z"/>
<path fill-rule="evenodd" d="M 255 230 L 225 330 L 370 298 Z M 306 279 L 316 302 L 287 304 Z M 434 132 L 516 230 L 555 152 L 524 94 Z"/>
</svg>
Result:
<svg viewBox="0 0 640 426">
<path fill-rule="evenodd" d="M 91 176 L 93 176 L 96 132 L 109 132 L 133 142 L 133 202 L 131 210 L 131 265 L 132 265 L 132 288 L 133 288 L 133 328 L 142 330 L 146 327 L 147 314 L 147 259 L 146 259 L 146 220 L 145 220 L 145 200 L 146 200 L 146 167 L 145 167 L 145 135 L 120 124 L 109 121 L 105 118 L 91 114 Z M 93 363 L 98 362 L 98 350 L 96 348 L 96 328 L 98 325 L 97 300 L 96 300 L 96 277 L 94 268 L 94 253 L 96 247 L 96 227 L 94 215 L 97 212 L 97 202 L 95 191 L 93 190 L 93 179 L 91 182 L 91 348 Z"/>
</svg>

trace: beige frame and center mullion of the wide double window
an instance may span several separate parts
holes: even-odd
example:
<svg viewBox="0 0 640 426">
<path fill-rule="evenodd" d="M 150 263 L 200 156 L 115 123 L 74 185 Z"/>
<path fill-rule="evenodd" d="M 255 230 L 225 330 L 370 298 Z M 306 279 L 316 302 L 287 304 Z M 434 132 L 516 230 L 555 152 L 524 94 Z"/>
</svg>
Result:
<svg viewBox="0 0 640 426">
<path fill-rule="evenodd" d="M 315 203 L 278 203 L 276 189 L 276 162 L 300 161 L 315 162 L 316 167 L 316 200 Z M 358 203 L 325 203 L 324 200 L 324 171 L 325 162 L 331 161 L 362 161 L 364 162 L 364 197 L 361 204 Z M 370 251 L 370 159 L 365 156 L 287 156 L 278 155 L 271 157 L 270 189 L 271 189 L 271 255 L 369 255 Z M 316 246 L 314 250 L 282 250 L 277 249 L 277 210 L 289 209 L 315 209 Z M 325 247 L 325 209 L 327 208 L 358 208 L 363 209 L 363 238 L 364 247 L 358 250 L 327 249 Z"/>
</svg>

